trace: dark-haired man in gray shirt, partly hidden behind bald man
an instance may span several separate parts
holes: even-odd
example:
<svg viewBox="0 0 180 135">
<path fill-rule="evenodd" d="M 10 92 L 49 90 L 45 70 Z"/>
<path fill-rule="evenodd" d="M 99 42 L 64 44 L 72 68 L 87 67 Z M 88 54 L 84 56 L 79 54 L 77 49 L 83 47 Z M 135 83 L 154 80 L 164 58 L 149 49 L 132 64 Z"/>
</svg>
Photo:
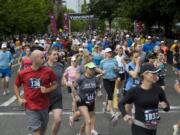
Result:
<svg viewBox="0 0 180 135">
<path fill-rule="evenodd" d="M 57 88 L 53 92 L 49 93 L 50 107 L 49 112 L 53 112 L 54 122 L 52 125 L 51 135 L 57 135 L 59 128 L 61 126 L 62 120 L 62 92 L 61 92 L 61 82 L 64 72 L 64 66 L 58 63 L 58 51 L 55 49 L 50 49 L 48 51 L 48 61 L 45 63 L 46 66 L 50 67 L 57 76 Z"/>
</svg>

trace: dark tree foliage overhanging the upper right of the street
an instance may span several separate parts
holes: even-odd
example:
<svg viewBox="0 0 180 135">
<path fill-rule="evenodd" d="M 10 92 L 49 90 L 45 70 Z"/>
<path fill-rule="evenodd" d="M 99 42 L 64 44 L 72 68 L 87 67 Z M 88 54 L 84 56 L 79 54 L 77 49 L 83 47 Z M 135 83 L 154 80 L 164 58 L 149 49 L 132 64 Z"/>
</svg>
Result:
<svg viewBox="0 0 180 135">
<path fill-rule="evenodd" d="M 166 30 L 180 19 L 179 7 L 178 0 L 92 0 L 90 4 L 92 12 L 100 19 L 125 17 L 142 21 L 148 28 L 159 25 Z"/>
</svg>

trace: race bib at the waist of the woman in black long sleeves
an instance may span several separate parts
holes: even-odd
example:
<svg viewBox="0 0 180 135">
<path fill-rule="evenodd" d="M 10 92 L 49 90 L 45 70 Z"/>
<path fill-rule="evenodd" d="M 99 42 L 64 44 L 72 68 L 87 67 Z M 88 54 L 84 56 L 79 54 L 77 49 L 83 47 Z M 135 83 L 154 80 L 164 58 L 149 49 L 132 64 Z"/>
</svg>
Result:
<svg viewBox="0 0 180 135">
<path fill-rule="evenodd" d="M 144 117 L 145 117 L 145 126 L 150 128 L 157 127 L 160 120 L 158 109 L 145 110 Z"/>
</svg>

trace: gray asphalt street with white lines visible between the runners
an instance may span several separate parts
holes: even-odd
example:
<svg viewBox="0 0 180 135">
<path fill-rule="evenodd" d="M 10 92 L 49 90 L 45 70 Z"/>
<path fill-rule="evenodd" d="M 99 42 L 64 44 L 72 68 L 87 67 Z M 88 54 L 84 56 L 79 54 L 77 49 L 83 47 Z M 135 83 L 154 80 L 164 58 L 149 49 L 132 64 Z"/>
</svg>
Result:
<svg viewBox="0 0 180 135">
<path fill-rule="evenodd" d="M 30 132 L 26 128 L 26 115 L 24 108 L 19 106 L 13 94 L 13 82 L 17 74 L 17 67 L 13 68 L 13 75 L 10 81 L 11 93 L 7 96 L 2 96 L 2 87 L 0 85 L 0 135 L 28 135 Z M 172 125 L 180 119 L 180 100 L 173 88 L 176 76 L 168 66 L 166 77 L 166 95 L 171 105 L 171 111 L 168 113 L 160 112 L 161 122 L 158 127 L 157 135 L 172 135 Z M 63 89 L 63 106 L 64 114 L 62 125 L 58 135 L 76 135 L 80 127 L 82 118 L 75 123 L 74 128 L 70 128 L 68 117 L 71 113 L 71 97 L 66 89 Z M 103 93 L 104 90 L 103 90 Z M 102 98 L 96 100 L 96 129 L 101 135 L 131 135 L 130 125 L 125 123 L 122 118 L 119 119 L 117 126 L 113 126 L 110 121 L 110 115 L 102 112 L 102 102 L 105 99 L 105 94 Z M 50 135 L 52 125 L 52 115 L 46 135 Z"/>
</svg>

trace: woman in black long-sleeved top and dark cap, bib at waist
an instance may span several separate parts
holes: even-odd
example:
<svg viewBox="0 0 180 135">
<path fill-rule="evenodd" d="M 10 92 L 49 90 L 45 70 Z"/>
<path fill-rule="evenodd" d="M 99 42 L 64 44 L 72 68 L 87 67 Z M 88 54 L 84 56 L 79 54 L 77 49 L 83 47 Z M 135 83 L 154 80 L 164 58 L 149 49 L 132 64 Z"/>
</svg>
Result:
<svg viewBox="0 0 180 135">
<path fill-rule="evenodd" d="M 132 88 L 120 101 L 119 109 L 124 121 L 132 124 L 132 135 L 156 135 L 160 120 L 158 107 L 169 111 L 169 103 L 161 87 L 153 85 L 157 81 L 157 69 L 150 64 L 141 67 L 142 84 Z M 135 117 L 129 115 L 126 104 L 134 103 Z"/>
</svg>

